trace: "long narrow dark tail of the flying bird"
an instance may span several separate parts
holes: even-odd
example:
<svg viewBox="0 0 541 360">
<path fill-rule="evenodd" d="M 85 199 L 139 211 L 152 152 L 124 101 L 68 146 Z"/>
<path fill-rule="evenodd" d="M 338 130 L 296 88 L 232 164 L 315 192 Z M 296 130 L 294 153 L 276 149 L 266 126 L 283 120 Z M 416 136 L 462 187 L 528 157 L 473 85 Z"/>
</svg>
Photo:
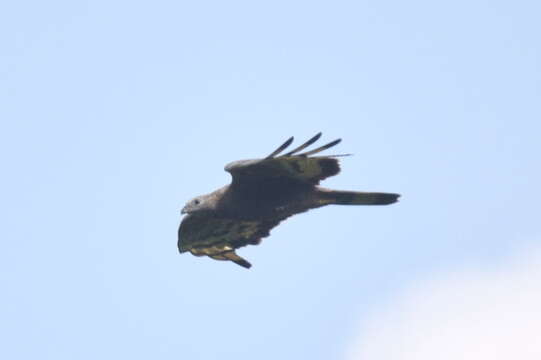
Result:
<svg viewBox="0 0 541 360">
<path fill-rule="evenodd" d="M 320 189 L 322 205 L 389 205 L 398 201 L 399 194 L 380 192 L 337 191 Z"/>
</svg>

